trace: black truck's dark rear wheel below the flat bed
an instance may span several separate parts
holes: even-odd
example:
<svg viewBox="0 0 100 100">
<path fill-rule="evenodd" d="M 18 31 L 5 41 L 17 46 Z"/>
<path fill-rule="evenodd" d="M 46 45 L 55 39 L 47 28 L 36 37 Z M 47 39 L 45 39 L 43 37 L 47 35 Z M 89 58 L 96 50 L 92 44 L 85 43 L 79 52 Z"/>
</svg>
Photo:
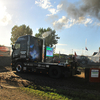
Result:
<svg viewBox="0 0 100 100">
<path fill-rule="evenodd" d="M 49 76 L 52 78 L 60 78 L 61 77 L 61 69 L 57 66 L 50 67 Z"/>
</svg>

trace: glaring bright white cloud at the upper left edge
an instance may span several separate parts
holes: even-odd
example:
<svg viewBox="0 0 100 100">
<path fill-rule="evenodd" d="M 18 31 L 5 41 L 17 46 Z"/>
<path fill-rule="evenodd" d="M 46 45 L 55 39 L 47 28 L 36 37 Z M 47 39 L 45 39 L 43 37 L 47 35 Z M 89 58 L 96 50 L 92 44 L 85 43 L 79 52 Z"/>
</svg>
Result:
<svg viewBox="0 0 100 100">
<path fill-rule="evenodd" d="M 2 3 L 0 3 L 0 25 L 7 25 L 9 21 L 11 21 L 11 15 L 6 12 L 6 6 L 3 6 Z"/>
</svg>

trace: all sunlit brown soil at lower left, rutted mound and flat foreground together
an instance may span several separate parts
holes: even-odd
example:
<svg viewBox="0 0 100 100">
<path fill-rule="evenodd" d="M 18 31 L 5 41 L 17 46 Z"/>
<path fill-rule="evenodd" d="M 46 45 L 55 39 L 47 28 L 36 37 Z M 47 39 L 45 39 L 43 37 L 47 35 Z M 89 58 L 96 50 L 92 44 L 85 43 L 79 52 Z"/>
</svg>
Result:
<svg viewBox="0 0 100 100">
<path fill-rule="evenodd" d="M 0 100 L 41 100 L 19 89 L 28 84 L 29 81 L 14 74 L 11 67 L 0 67 Z"/>
</svg>

